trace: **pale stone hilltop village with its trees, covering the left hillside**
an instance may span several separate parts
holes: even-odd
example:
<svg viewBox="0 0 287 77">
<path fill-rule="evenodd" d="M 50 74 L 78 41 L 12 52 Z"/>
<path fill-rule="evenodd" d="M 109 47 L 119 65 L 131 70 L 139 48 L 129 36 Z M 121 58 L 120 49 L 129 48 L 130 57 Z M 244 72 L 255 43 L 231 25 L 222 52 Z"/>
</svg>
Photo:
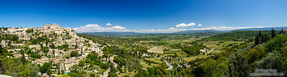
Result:
<svg viewBox="0 0 287 77">
<path fill-rule="evenodd" d="M 79 64 L 91 52 L 97 56 L 104 55 L 105 45 L 77 36 L 71 28 L 63 28 L 59 24 L 45 24 L 44 27 L 1 28 L 2 49 L 7 49 L 9 58 L 24 58 L 32 64 L 45 66 L 53 64 L 49 70 L 69 73 L 69 68 Z M 32 43 L 32 44 L 31 44 Z M 5 53 L 5 52 L 3 52 Z M 102 58 L 103 63 L 112 62 L 113 57 Z M 116 67 L 118 64 L 112 62 Z M 44 73 L 44 74 L 43 74 Z M 50 73 L 49 73 L 50 74 Z M 47 75 L 47 70 L 38 75 Z M 54 74 L 55 75 L 55 74 Z M 55 75 L 57 76 L 57 75 Z"/>
</svg>

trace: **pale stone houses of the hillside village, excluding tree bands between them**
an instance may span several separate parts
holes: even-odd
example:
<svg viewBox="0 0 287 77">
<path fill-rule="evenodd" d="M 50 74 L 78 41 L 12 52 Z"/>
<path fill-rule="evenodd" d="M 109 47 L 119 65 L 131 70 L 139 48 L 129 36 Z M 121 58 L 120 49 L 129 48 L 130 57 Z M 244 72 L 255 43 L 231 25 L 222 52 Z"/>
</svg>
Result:
<svg viewBox="0 0 287 77">
<path fill-rule="evenodd" d="M 31 33 L 27 33 L 26 30 L 32 30 L 34 32 Z M 35 59 L 35 60 L 31 60 L 31 57 L 29 57 L 26 53 L 24 54 L 25 58 L 29 61 L 32 61 L 32 63 L 37 63 L 40 64 L 41 66 L 45 63 L 45 62 L 53 62 L 55 64 L 59 64 L 60 65 L 60 69 L 69 69 L 69 67 L 73 66 L 74 64 L 78 64 L 80 60 L 83 60 L 83 58 L 85 58 L 89 52 L 95 51 L 96 53 L 98 53 L 98 56 L 102 56 L 103 55 L 103 51 L 102 48 L 105 47 L 105 45 L 101 45 L 101 44 L 96 44 L 94 43 L 92 40 L 86 39 L 86 38 L 82 38 L 77 36 L 76 32 L 74 32 L 71 28 L 63 28 L 60 25 L 54 23 L 54 24 L 45 24 L 44 27 L 23 27 L 23 28 L 8 28 L 7 30 L 4 30 L 3 28 L 0 30 L 1 34 L 7 34 L 7 35 L 18 35 L 19 40 L 25 40 L 25 41 L 29 41 L 31 38 L 33 39 L 37 39 L 37 36 L 33 36 L 32 33 L 39 33 L 39 35 L 52 35 L 53 33 L 56 33 L 58 35 L 58 37 L 54 37 L 54 36 L 50 36 L 48 37 L 49 39 L 54 39 L 54 41 L 50 42 L 50 43 L 44 43 L 41 42 L 41 44 L 43 45 L 43 47 L 49 47 L 49 52 L 47 53 L 47 56 L 42 56 L 40 59 Z M 69 39 L 67 39 L 67 36 L 69 35 Z M 2 46 L 8 46 L 8 43 L 10 43 L 10 46 L 20 46 L 24 47 L 25 42 L 22 44 L 16 44 L 13 43 L 13 41 L 10 42 L 10 40 L 1 40 L 1 45 Z M 50 46 L 54 44 L 55 47 L 57 46 L 61 46 L 63 44 L 68 44 L 70 49 L 74 49 L 74 50 L 59 50 L 59 49 L 52 49 L 50 48 Z M 29 45 L 28 47 L 31 48 L 31 51 L 37 52 L 37 54 L 44 54 L 44 52 L 39 52 L 39 50 L 41 49 L 40 44 L 34 44 L 34 45 Z M 102 46 L 102 47 L 100 47 Z M 14 58 L 17 57 L 22 57 L 22 55 L 19 53 L 21 49 L 11 49 L 8 51 L 13 51 L 15 53 L 11 53 L 13 54 Z M 81 54 L 81 56 L 78 57 L 70 57 L 70 58 L 64 58 L 63 56 L 66 55 L 70 55 L 70 53 L 72 51 L 76 51 L 79 54 Z M 50 57 L 51 56 L 51 57 Z M 7 57 L 11 57 L 12 56 L 7 56 Z M 49 57 L 49 58 L 48 58 Z M 111 61 L 113 62 L 113 61 Z M 114 66 L 117 66 L 117 63 L 114 63 Z"/>
</svg>

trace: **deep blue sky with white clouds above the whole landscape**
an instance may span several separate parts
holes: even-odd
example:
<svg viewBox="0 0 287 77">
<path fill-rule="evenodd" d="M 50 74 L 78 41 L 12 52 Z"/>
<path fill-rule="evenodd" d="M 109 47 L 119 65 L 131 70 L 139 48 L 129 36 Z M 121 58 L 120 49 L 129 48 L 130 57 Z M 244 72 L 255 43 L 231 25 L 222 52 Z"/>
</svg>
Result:
<svg viewBox="0 0 287 77">
<path fill-rule="evenodd" d="M 78 33 L 285 27 L 286 3 L 286 0 L 7 0 L 0 2 L 0 26 L 40 27 L 56 22 Z"/>
</svg>

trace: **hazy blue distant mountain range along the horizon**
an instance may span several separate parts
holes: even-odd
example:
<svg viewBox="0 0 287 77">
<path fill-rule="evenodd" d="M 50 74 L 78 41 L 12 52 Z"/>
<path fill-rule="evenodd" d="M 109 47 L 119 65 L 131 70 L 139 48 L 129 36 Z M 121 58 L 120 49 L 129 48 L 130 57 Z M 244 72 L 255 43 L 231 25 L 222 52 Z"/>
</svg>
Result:
<svg viewBox="0 0 287 77">
<path fill-rule="evenodd" d="M 243 30 L 271 30 L 272 27 L 264 27 L 264 28 L 246 28 L 246 29 L 237 29 L 237 30 L 186 30 L 169 34 L 191 34 L 191 33 L 205 33 L 205 32 L 213 32 L 213 33 L 227 33 L 231 31 L 243 31 Z M 287 29 L 287 27 L 273 27 L 274 30 L 282 30 Z M 155 33 L 136 33 L 136 32 L 89 32 L 89 33 L 80 33 L 87 35 L 98 35 L 98 36 L 122 36 L 122 35 L 140 35 L 140 34 L 155 34 Z"/>
</svg>

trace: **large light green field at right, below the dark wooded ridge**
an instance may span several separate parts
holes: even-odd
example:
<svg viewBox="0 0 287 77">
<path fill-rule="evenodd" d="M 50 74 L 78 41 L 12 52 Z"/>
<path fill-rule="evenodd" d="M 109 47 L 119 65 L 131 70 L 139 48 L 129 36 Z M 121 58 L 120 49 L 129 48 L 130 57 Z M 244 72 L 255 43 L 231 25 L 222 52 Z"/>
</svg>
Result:
<svg viewBox="0 0 287 77">
<path fill-rule="evenodd" d="M 238 45 L 238 44 L 242 43 L 241 41 L 227 41 L 224 43 L 219 43 L 219 42 L 220 41 L 209 41 L 209 42 L 204 42 L 203 44 L 205 44 L 205 46 L 209 47 L 209 48 L 221 49 L 221 48 L 224 48 L 224 47 L 222 47 L 223 45 L 227 46 L 228 44 L 233 44 L 233 43 L 237 43 L 236 45 Z M 217 44 L 220 44 L 220 45 L 217 45 Z"/>
</svg>

